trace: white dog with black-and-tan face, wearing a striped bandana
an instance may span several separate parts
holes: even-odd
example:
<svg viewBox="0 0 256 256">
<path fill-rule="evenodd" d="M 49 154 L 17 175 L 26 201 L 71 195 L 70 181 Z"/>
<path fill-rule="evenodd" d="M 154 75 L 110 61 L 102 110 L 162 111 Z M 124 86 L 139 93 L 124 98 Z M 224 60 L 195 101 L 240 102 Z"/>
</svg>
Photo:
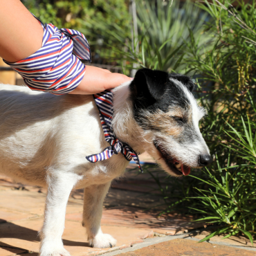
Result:
<svg viewBox="0 0 256 256">
<path fill-rule="evenodd" d="M 185 75 L 137 71 L 113 89 L 113 132 L 137 153 L 147 151 L 172 176 L 212 162 L 199 130 L 205 110 Z M 109 146 L 92 95 L 51 95 L 25 86 L 0 86 L 0 172 L 15 181 L 47 187 L 39 255 L 68 256 L 62 243 L 68 196 L 84 188 L 82 225 L 95 248 L 116 245 L 100 228 L 111 181 L 125 172 L 122 154 L 97 163 L 85 156 Z"/>
</svg>

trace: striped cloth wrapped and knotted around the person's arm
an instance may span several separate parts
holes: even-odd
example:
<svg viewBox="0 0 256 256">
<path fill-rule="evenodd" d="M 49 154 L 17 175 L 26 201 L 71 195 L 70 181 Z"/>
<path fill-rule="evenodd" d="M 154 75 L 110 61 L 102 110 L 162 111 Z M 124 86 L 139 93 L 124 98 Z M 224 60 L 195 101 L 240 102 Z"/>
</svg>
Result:
<svg viewBox="0 0 256 256">
<path fill-rule="evenodd" d="M 15 69 L 32 90 L 55 95 L 69 93 L 84 77 L 86 67 L 81 60 L 91 62 L 89 44 L 77 30 L 58 29 L 38 21 L 44 28 L 42 48 L 19 62 L 4 62 Z"/>
</svg>

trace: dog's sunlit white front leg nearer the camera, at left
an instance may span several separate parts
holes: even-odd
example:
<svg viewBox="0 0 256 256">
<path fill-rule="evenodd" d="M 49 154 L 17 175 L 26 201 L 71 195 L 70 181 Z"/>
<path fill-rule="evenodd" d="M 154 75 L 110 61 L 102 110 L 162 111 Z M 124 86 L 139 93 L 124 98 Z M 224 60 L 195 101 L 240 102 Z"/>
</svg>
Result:
<svg viewBox="0 0 256 256">
<path fill-rule="evenodd" d="M 44 225 L 39 232 L 41 238 L 39 255 L 70 256 L 63 247 L 62 233 L 68 196 L 78 178 L 75 174 L 57 172 L 48 174 L 47 181 Z"/>
</svg>

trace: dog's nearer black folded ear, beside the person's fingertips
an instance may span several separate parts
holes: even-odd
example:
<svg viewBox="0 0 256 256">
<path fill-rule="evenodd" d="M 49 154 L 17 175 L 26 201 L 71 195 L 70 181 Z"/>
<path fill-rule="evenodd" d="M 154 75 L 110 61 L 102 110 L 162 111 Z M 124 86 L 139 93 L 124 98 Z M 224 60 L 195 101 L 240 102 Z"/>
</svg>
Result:
<svg viewBox="0 0 256 256">
<path fill-rule="evenodd" d="M 136 87 L 136 97 L 160 100 L 167 90 L 168 81 L 168 73 L 142 68 L 137 71 L 132 83 Z"/>
</svg>

